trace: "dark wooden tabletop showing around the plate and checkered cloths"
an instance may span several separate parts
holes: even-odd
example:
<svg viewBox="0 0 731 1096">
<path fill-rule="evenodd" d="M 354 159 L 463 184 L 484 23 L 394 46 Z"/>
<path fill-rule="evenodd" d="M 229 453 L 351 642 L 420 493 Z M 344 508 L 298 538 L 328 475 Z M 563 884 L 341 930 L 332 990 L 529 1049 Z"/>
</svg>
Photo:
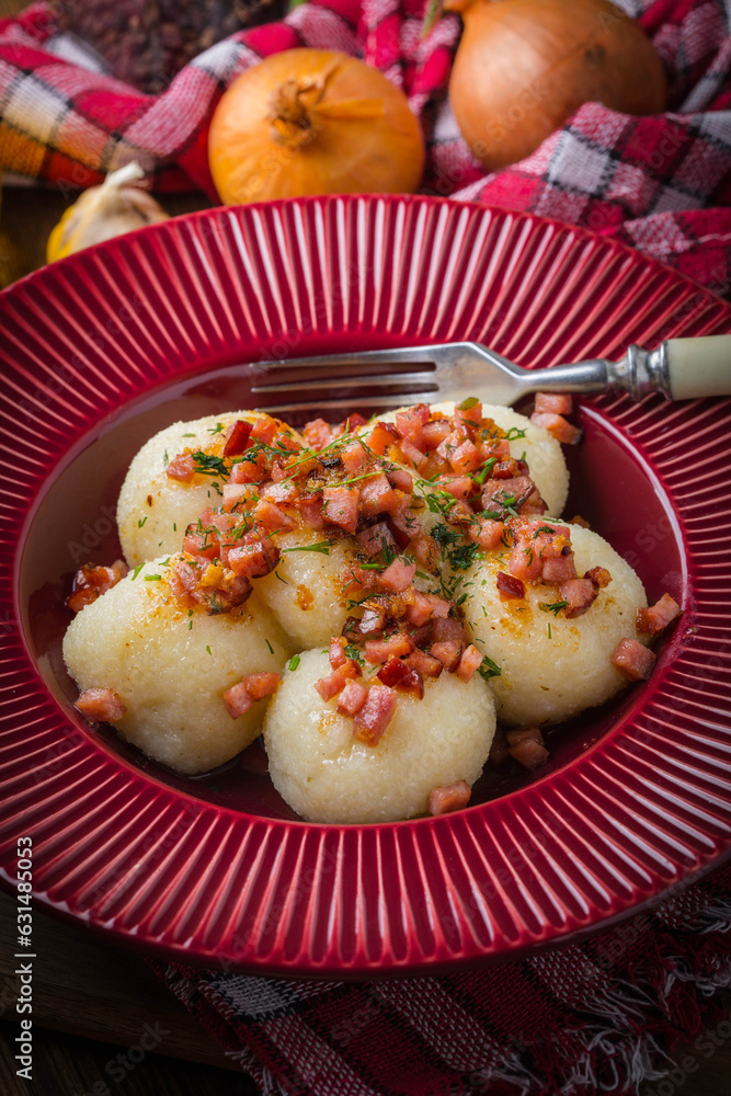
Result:
<svg viewBox="0 0 731 1096">
<path fill-rule="evenodd" d="M 22 7 L 23 0 L 0 0 L 0 16 Z M 70 201 L 53 190 L 3 190 L 0 286 L 44 263 L 48 233 Z M 173 216 L 208 204 L 199 194 L 163 198 Z M 259 1088 L 189 1016 L 141 957 L 39 910 L 34 912 L 38 956 L 33 984 L 35 1080 L 19 1078 L 13 1058 L 19 1031 L 14 924 L 15 903 L 0 892 L 2 1096 L 256 1096 Z M 159 1041 L 133 1068 L 124 1051 L 138 1048 L 150 1027 Z M 137 1059 L 138 1053 L 133 1057 Z M 720 1026 L 716 1021 L 701 1038 L 681 1043 L 673 1058 L 677 1064 L 670 1075 L 644 1084 L 640 1096 L 729 1096 L 731 1020 Z"/>
</svg>

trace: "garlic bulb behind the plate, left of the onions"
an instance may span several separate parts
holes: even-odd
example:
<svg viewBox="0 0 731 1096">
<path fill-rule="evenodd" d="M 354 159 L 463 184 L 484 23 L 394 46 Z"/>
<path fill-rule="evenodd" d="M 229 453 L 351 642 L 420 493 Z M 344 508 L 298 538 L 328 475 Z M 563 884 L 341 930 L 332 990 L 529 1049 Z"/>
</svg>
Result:
<svg viewBox="0 0 731 1096">
<path fill-rule="evenodd" d="M 151 194 L 139 186 L 128 185 L 144 178 L 140 165 L 132 162 L 108 174 L 100 186 L 84 191 L 48 237 L 48 262 L 65 259 L 92 243 L 132 232 L 144 225 L 168 220 L 168 214 Z"/>
</svg>

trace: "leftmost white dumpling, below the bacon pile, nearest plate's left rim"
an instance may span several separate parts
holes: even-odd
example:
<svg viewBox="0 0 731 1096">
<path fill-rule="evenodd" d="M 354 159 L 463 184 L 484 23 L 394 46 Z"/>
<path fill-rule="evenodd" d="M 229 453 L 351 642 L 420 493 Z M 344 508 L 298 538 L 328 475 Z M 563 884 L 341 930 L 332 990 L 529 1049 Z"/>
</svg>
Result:
<svg viewBox="0 0 731 1096">
<path fill-rule="evenodd" d="M 167 573 L 153 560 L 83 608 L 64 638 L 64 659 L 80 689 L 122 698 L 127 711 L 115 728 L 124 739 L 179 773 L 205 773 L 253 742 L 266 706 L 232 719 L 225 690 L 248 674 L 279 673 L 289 651 L 255 596 L 230 614 L 189 612 Z"/>
</svg>

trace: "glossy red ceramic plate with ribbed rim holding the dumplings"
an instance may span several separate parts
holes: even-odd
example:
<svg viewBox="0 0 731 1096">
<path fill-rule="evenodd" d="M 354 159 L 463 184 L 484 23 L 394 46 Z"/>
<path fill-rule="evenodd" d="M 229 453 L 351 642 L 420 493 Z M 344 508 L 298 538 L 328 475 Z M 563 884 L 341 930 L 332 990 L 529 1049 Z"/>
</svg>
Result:
<svg viewBox="0 0 731 1096">
<path fill-rule="evenodd" d="M 569 513 L 685 613 L 650 681 L 550 734 L 467 810 L 308 825 L 251 749 L 185 780 L 91 730 L 60 661 L 64 576 L 118 551 L 128 460 L 252 406 L 251 366 L 477 339 L 527 366 L 731 331 L 731 308 L 570 227 L 421 197 L 217 209 L 111 241 L 0 298 L 0 864 L 35 901 L 186 961 L 368 975 L 515 958 L 719 861 L 731 834 L 731 407 L 586 400 Z M 244 363 L 244 364 L 242 364 Z M 587 672 L 591 667 L 587 667 Z"/>
</svg>

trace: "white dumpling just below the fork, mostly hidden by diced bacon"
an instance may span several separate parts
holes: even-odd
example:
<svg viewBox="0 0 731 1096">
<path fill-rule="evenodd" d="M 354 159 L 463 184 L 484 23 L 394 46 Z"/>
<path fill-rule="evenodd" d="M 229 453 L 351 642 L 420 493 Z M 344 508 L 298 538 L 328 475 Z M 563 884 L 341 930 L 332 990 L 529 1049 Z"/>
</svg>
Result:
<svg viewBox="0 0 731 1096">
<path fill-rule="evenodd" d="M 396 422 L 399 411 L 388 411 L 378 415 L 381 422 Z M 432 403 L 432 413 L 445 414 L 452 418 L 455 413 L 454 400 L 445 400 L 443 403 Z M 530 479 L 538 488 L 538 492 L 548 506 L 548 513 L 553 517 L 559 517 L 566 506 L 569 494 L 569 469 L 563 457 L 560 444 L 555 437 L 536 426 L 525 415 L 518 414 L 512 408 L 499 407 L 498 404 L 483 403 L 482 415 L 484 419 L 492 419 L 496 426 L 506 433 L 515 431 L 519 437 L 509 442 L 511 457 L 519 460 L 525 454 L 525 460 L 530 470 Z M 364 426 L 362 434 L 367 435 L 373 430 L 369 423 Z"/>
</svg>

